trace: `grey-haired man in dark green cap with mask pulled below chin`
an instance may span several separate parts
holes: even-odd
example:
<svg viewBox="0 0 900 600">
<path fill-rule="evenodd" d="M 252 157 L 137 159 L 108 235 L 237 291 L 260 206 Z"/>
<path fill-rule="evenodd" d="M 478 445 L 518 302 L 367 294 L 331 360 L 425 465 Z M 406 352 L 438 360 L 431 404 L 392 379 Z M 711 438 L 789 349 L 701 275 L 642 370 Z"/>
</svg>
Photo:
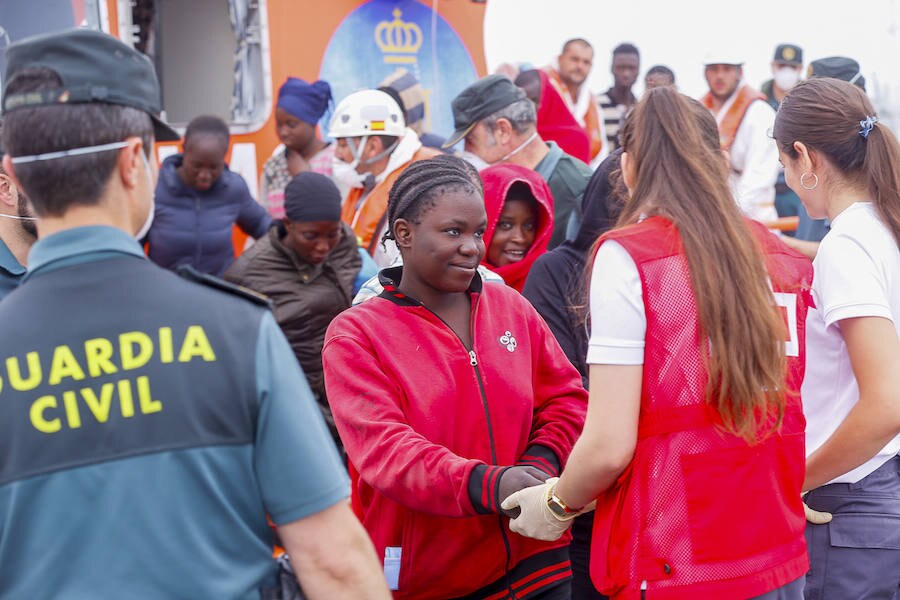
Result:
<svg viewBox="0 0 900 600">
<path fill-rule="evenodd" d="M 537 132 L 537 112 L 525 92 L 502 75 L 479 79 L 454 98 L 456 131 L 444 144 L 465 140 L 463 158 L 481 170 L 509 162 L 533 169 L 553 193 L 553 235 L 549 248 L 574 239 L 581 226 L 581 198 L 593 172 L 556 142 Z"/>
</svg>

